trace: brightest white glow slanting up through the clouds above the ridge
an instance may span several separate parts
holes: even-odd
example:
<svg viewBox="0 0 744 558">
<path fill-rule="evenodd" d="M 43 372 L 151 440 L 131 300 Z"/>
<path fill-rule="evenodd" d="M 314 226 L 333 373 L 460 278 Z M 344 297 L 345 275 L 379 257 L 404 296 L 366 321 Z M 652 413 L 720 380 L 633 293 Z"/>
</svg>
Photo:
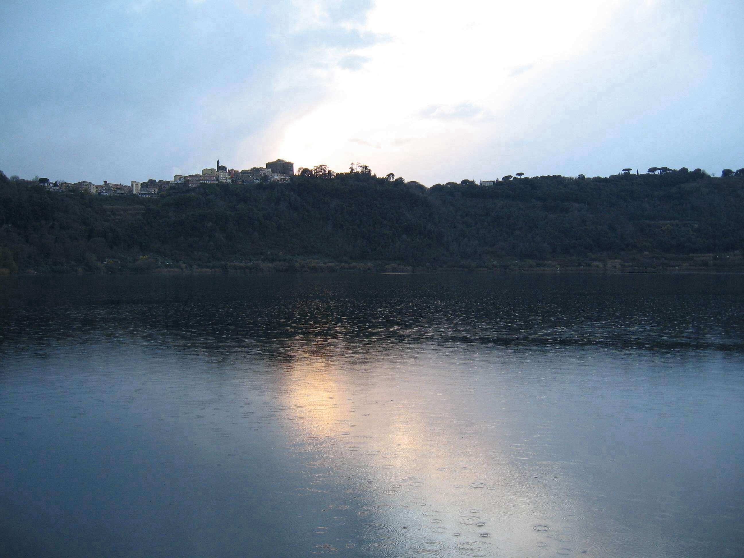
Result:
<svg viewBox="0 0 744 558">
<path fill-rule="evenodd" d="M 586 50 L 592 29 L 604 28 L 619 4 L 471 0 L 456 10 L 449 2 L 422 10 L 414 1 L 379 1 L 367 25 L 389 40 L 356 52 L 368 60 L 361 70 L 329 76 L 332 98 L 289 126 L 282 151 L 308 164 L 330 157 L 338 166 L 359 156 L 400 162 L 411 147 L 472 148 L 462 143 L 498 127 L 519 92 L 519 74 Z"/>
</svg>

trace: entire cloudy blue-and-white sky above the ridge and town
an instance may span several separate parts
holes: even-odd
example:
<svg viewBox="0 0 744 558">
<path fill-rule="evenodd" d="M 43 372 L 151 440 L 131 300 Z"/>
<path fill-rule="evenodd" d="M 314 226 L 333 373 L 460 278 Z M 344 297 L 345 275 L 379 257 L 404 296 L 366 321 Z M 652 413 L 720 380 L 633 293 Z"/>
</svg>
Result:
<svg viewBox="0 0 744 558">
<path fill-rule="evenodd" d="M 0 170 L 744 167 L 740 0 L 0 3 Z"/>
</svg>

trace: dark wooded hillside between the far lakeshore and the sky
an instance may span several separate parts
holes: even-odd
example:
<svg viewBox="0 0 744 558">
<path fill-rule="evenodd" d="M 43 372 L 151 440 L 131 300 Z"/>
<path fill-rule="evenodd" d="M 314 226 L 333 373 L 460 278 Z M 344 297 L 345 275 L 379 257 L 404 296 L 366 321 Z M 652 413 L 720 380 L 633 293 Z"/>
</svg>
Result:
<svg viewBox="0 0 744 558">
<path fill-rule="evenodd" d="M 736 175 L 682 169 L 427 189 L 363 167 L 161 198 L 52 193 L 1 175 L 0 269 L 307 269 L 311 261 L 507 269 L 610 260 L 647 268 L 690 254 L 708 254 L 693 259 L 716 266 L 740 262 L 744 248 L 744 177 Z"/>
</svg>

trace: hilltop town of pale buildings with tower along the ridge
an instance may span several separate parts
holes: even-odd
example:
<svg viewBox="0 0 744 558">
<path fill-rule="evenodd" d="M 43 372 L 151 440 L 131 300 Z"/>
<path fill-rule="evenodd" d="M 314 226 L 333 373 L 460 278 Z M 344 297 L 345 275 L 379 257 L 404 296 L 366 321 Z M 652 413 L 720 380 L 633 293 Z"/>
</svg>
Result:
<svg viewBox="0 0 744 558">
<path fill-rule="evenodd" d="M 97 185 L 87 180 L 80 182 L 62 182 L 47 178 L 39 178 L 33 182 L 38 182 L 47 190 L 52 192 L 85 192 L 98 196 L 127 196 L 135 195 L 143 198 L 159 196 L 169 190 L 187 190 L 205 184 L 257 184 L 258 182 L 289 182 L 290 177 L 295 174 L 295 164 L 291 161 L 277 159 L 266 163 L 266 167 L 253 167 L 247 170 L 228 169 L 224 164 L 219 164 L 215 168 L 202 169 L 200 174 L 176 174 L 173 180 L 155 180 L 149 179 L 144 182 L 132 180 L 130 185 L 114 184 L 103 181 L 103 184 Z"/>
</svg>

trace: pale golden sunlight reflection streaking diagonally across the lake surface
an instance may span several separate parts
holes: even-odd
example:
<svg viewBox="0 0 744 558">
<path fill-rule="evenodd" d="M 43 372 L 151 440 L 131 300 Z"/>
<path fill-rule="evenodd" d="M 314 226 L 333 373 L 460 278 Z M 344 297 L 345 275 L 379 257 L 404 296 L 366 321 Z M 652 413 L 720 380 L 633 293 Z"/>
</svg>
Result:
<svg viewBox="0 0 744 558">
<path fill-rule="evenodd" d="M 482 405 L 467 405 L 475 388 L 452 379 L 466 373 L 441 359 L 437 347 L 419 347 L 410 356 L 359 358 L 324 345 L 289 359 L 284 388 L 297 441 L 338 444 L 324 458 L 368 478 L 372 505 L 408 513 L 409 536 L 460 533 L 458 540 L 498 541 L 503 551 L 519 553 L 545 539 L 533 525 L 551 524 L 552 536 L 560 533 L 554 527 L 562 515 L 591 509 L 591 501 L 579 501 L 586 487 L 578 479 L 546 482 L 561 464 L 512 458 L 524 452 L 509 444 L 507 434 L 516 434 L 509 432 L 509 417 L 500 415 L 499 405 L 485 418 Z M 548 471 L 550 479 L 538 479 Z"/>
</svg>

